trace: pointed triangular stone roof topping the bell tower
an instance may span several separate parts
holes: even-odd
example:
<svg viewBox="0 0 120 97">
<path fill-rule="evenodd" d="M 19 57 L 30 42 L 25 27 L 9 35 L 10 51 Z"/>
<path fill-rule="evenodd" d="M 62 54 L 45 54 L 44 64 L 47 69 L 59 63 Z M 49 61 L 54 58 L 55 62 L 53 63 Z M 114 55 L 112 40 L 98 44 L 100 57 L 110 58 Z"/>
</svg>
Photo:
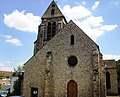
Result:
<svg viewBox="0 0 120 97">
<path fill-rule="evenodd" d="M 51 15 L 51 10 L 54 9 L 54 15 Z M 53 17 L 64 17 L 64 15 L 62 14 L 62 12 L 60 11 L 60 9 L 58 8 L 57 4 L 55 3 L 55 1 L 53 0 L 51 2 L 51 4 L 49 5 L 49 7 L 47 8 L 47 10 L 45 11 L 45 13 L 42 16 L 43 18 L 53 18 Z M 66 19 L 65 19 L 66 20 Z"/>
</svg>

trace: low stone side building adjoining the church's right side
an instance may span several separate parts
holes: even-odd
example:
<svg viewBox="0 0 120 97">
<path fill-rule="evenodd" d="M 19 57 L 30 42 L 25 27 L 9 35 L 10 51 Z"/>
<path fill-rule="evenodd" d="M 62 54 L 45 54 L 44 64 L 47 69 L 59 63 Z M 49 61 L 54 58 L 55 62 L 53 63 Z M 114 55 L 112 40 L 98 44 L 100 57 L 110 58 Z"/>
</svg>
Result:
<svg viewBox="0 0 120 97">
<path fill-rule="evenodd" d="M 106 95 L 118 95 L 117 70 L 115 60 L 104 60 L 106 71 Z"/>
</svg>

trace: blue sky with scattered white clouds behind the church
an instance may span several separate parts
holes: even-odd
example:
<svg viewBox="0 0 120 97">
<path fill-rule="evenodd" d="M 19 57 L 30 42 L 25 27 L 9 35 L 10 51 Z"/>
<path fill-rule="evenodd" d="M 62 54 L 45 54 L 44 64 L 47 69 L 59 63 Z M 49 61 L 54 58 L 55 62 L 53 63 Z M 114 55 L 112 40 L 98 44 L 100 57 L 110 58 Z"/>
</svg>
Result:
<svg viewBox="0 0 120 97">
<path fill-rule="evenodd" d="M 13 71 L 33 55 L 41 17 L 52 0 L 0 0 L 0 70 Z M 103 59 L 120 59 L 120 0 L 56 0 L 100 47 Z"/>
</svg>

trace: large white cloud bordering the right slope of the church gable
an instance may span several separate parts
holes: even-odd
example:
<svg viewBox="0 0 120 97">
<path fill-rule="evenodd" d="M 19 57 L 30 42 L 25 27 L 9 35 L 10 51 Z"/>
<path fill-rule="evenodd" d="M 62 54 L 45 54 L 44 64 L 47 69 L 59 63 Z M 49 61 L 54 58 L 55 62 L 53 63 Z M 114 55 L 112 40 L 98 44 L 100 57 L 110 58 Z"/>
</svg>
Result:
<svg viewBox="0 0 120 97">
<path fill-rule="evenodd" d="M 89 37 L 97 40 L 105 32 L 112 31 L 118 25 L 103 25 L 104 20 L 102 16 L 94 17 L 89 16 L 82 21 L 74 21 Z"/>
</svg>

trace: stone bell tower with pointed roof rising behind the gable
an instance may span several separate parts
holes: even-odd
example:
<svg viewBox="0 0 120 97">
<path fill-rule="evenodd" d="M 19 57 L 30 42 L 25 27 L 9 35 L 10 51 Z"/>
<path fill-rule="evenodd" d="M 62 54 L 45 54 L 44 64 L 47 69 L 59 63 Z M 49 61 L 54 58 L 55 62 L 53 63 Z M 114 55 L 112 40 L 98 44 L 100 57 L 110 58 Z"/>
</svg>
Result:
<svg viewBox="0 0 120 97">
<path fill-rule="evenodd" d="M 36 54 L 42 46 L 44 46 L 67 24 L 64 15 L 54 0 L 51 2 L 41 19 L 42 22 L 38 26 L 37 40 L 34 42 L 34 54 Z"/>
</svg>

